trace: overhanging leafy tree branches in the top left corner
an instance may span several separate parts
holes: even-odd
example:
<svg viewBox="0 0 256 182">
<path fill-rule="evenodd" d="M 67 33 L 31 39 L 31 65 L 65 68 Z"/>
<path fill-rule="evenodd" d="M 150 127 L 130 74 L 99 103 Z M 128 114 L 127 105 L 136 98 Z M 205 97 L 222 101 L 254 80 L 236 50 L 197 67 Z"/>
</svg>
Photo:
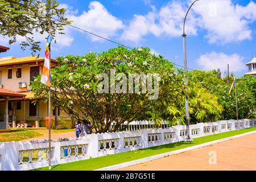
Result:
<svg viewBox="0 0 256 182">
<path fill-rule="evenodd" d="M 15 43 L 18 36 L 24 37 L 21 48 L 30 47 L 35 54 L 40 51 L 40 42 L 33 36 L 35 32 L 43 35 L 51 27 L 54 39 L 57 32 L 63 34 L 65 24 L 71 23 L 64 17 L 65 9 L 58 7 L 55 0 L 0 0 L 0 35 L 9 37 L 9 44 Z"/>
</svg>

